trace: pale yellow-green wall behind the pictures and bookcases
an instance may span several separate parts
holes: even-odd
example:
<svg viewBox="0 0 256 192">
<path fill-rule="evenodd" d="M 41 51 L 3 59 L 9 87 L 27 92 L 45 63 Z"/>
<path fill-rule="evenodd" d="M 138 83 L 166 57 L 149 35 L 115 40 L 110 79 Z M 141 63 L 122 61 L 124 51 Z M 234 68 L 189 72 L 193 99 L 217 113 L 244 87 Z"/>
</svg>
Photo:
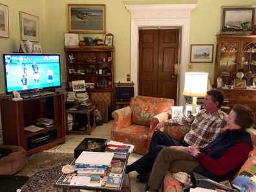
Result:
<svg viewBox="0 0 256 192">
<path fill-rule="evenodd" d="M 126 74 L 130 73 L 130 12 L 125 5 L 132 4 L 178 4 L 197 3 L 197 8 L 191 12 L 190 44 L 214 44 L 216 48 L 216 34 L 220 31 L 221 6 L 256 5 L 255 0 L 0 0 L 8 5 L 10 37 L 0 37 L 0 54 L 3 52 L 17 52 L 19 50 L 19 11 L 27 12 L 39 17 L 39 42 L 43 52 L 61 54 L 62 80 L 66 81 L 64 33 L 68 32 L 67 4 L 104 4 L 106 5 L 106 33 L 114 34 L 115 46 L 115 78 L 114 81 L 126 81 Z M 83 36 L 99 37 L 104 34 L 80 34 Z M 190 45 L 189 45 L 190 46 Z M 190 71 L 209 72 L 213 80 L 213 63 L 193 63 Z M 1 60 L 2 63 L 2 60 Z M 0 93 L 4 92 L 3 67 L 0 67 Z"/>
</svg>

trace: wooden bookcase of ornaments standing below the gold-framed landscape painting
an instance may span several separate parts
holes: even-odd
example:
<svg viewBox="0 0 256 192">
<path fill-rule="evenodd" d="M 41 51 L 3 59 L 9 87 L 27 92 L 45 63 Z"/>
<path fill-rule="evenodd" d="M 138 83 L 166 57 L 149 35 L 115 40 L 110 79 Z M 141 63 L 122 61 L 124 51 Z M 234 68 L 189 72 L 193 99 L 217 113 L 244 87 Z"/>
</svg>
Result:
<svg viewBox="0 0 256 192">
<path fill-rule="evenodd" d="M 114 110 L 114 46 L 66 46 L 65 54 L 67 91 L 72 91 L 72 81 L 92 83 L 94 88 L 86 91 L 107 123 Z"/>
</svg>

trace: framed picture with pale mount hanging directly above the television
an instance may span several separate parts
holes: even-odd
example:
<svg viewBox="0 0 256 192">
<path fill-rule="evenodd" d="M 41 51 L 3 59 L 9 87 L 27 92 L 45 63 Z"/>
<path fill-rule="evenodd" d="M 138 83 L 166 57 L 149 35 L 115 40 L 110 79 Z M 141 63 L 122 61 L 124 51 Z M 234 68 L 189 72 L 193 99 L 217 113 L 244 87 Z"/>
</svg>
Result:
<svg viewBox="0 0 256 192">
<path fill-rule="evenodd" d="M 39 41 L 39 17 L 19 12 L 19 27 L 22 40 Z"/>
</svg>

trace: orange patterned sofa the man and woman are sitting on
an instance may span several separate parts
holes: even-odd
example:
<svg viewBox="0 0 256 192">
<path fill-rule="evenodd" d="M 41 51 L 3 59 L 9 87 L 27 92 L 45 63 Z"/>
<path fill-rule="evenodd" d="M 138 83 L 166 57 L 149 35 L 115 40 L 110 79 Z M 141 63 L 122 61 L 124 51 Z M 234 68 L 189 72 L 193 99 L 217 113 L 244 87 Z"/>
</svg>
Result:
<svg viewBox="0 0 256 192">
<path fill-rule="evenodd" d="M 182 140 L 185 134 L 190 130 L 190 126 L 182 126 L 182 125 L 167 125 L 162 128 L 161 131 L 169 134 L 176 140 Z M 251 151 L 250 155 L 248 156 L 248 160 L 242 165 L 238 173 L 235 175 L 237 176 L 240 172 L 244 171 L 247 167 L 249 167 L 253 161 L 256 162 L 256 130 L 253 128 L 248 129 L 248 132 L 251 134 L 251 140 L 253 141 L 253 151 Z M 235 177 L 234 176 L 234 177 Z M 225 183 L 225 182 L 224 182 Z M 175 180 L 175 178 L 167 171 L 164 182 L 163 182 L 163 191 L 164 192 L 180 192 L 183 191 L 184 185 Z"/>
</svg>

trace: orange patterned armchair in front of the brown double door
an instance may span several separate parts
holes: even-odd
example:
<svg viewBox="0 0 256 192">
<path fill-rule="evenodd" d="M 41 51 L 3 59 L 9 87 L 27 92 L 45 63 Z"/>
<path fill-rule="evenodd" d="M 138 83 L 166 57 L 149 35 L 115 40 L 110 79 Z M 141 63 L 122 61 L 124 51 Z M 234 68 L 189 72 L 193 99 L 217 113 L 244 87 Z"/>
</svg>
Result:
<svg viewBox="0 0 256 192">
<path fill-rule="evenodd" d="M 145 155 L 159 122 L 171 118 L 173 99 L 136 96 L 130 106 L 112 112 L 111 140 L 134 145 L 134 153 Z"/>
</svg>

